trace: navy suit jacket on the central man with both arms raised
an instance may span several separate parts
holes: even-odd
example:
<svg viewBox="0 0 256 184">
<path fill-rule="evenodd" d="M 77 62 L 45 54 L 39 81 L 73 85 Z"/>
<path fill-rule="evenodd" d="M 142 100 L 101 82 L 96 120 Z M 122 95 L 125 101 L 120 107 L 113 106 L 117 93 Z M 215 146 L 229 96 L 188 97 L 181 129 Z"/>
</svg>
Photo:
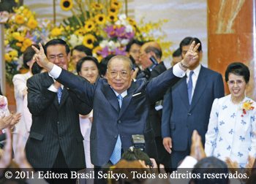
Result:
<svg viewBox="0 0 256 184">
<path fill-rule="evenodd" d="M 86 101 L 94 109 L 91 126 L 91 163 L 96 166 L 106 164 L 113 153 L 118 134 L 123 150 L 132 146 L 133 134 L 144 134 L 146 153 L 157 158 L 154 132 L 149 120 L 150 104 L 159 100 L 171 85 L 181 78 L 174 76 L 173 70 L 159 75 L 150 83 L 144 78 L 137 80 L 127 90 L 121 110 L 116 94 L 108 81 L 99 79 L 91 84 L 83 77 L 62 70 L 58 80 L 69 90 L 75 91 L 78 98 Z M 136 96 L 133 96 L 138 94 Z"/>
</svg>

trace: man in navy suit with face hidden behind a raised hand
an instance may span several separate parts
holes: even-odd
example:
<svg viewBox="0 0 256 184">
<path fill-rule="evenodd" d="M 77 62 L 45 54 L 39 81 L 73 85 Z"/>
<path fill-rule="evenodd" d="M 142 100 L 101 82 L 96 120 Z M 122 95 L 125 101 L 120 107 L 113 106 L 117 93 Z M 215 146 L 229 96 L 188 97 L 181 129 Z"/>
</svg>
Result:
<svg viewBox="0 0 256 184">
<path fill-rule="evenodd" d="M 197 44 L 200 40 L 186 37 L 181 41 L 183 58 L 186 57 L 192 42 Z M 200 65 L 203 54 L 201 44 L 196 52 L 199 57 L 188 67 L 187 77 L 183 77 L 167 91 L 163 103 L 163 145 L 171 153 L 173 169 L 177 168 L 179 161 L 189 155 L 194 130 L 202 137 L 204 145 L 211 105 L 214 99 L 224 96 L 222 75 Z"/>
</svg>

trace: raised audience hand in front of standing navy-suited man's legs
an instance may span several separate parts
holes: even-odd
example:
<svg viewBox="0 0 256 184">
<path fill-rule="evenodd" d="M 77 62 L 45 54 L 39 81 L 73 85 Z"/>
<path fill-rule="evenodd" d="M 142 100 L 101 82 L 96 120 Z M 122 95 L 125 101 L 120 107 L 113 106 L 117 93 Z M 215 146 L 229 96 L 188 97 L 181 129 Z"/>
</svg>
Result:
<svg viewBox="0 0 256 184">
<path fill-rule="evenodd" d="M 206 158 L 206 153 L 203 150 L 203 144 L 201 142 L 201 137 L 196 130 L 193 131 L 192 134 L 192 145 L 190 156 L 200 161 L 203 158 Z"/>
</svg>

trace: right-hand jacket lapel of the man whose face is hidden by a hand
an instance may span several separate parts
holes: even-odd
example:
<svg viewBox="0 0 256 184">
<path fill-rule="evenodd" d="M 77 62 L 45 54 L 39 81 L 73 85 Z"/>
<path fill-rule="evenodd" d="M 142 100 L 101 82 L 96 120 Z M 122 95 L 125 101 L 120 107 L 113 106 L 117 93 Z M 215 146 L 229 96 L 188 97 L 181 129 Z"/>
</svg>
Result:
<svg viewBox="0 0 256 184">
<path fill-rule="evenodd" d="M 200 99 L 200 97 L 203 94 L 203 91 L 205 91 L 206 89 L 206 85 L 207 85 L 206 77 L 207 77 L 207 74 L 205 73 L 203 66 L 201 66 L 201 69 L 197 78 L 197 84 L 195 85 L 195 91 L 192 97 L 190 110 L 192 110 L 197 105 L 197 101 Z"/>
</svg>

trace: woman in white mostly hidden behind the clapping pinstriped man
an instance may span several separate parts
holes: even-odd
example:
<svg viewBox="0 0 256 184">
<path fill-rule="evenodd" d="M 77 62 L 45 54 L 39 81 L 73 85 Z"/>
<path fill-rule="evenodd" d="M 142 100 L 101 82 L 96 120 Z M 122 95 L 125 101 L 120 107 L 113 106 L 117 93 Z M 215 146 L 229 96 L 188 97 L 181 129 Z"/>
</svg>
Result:
<svg viewBox="0 0 256 184">
<path fill-rule="evenodd" d="M 38 45 L 34 45 L 34 47 L 37 47 L 39 49 Z M 29 69 L 29 72 L 26 74 L 15 74 L 15 76 L 12 79 L 12 83 L 14 85 L 14 93 L 15 93 L 15 101 L 16 101 L 16 112 L 22 113 L 23 109 L 23 100 L 24 96 L 26 95 L 26 80 L 29 79 L 29 77 L 32 76 L 31 68 L 34 64 L 34 54 L 35 51 L 32 49 L 31 46 L 27 47 L 25 52 L 23 53 L 23 66 L 26 69 Z M 20 122 L 16 125 L 16 130 L 13 134 L 13 149 L 16 150 L 16 142 L 18 139 L 18 132 L 20 132 L 21 137 L 23 139 L 23 147 L 25 148 L 26 140 L 29 137 L 29 134 L 26 131 L 26 125 L 24 122 L 23 116 L 21 116 Z"/>
</svg>

